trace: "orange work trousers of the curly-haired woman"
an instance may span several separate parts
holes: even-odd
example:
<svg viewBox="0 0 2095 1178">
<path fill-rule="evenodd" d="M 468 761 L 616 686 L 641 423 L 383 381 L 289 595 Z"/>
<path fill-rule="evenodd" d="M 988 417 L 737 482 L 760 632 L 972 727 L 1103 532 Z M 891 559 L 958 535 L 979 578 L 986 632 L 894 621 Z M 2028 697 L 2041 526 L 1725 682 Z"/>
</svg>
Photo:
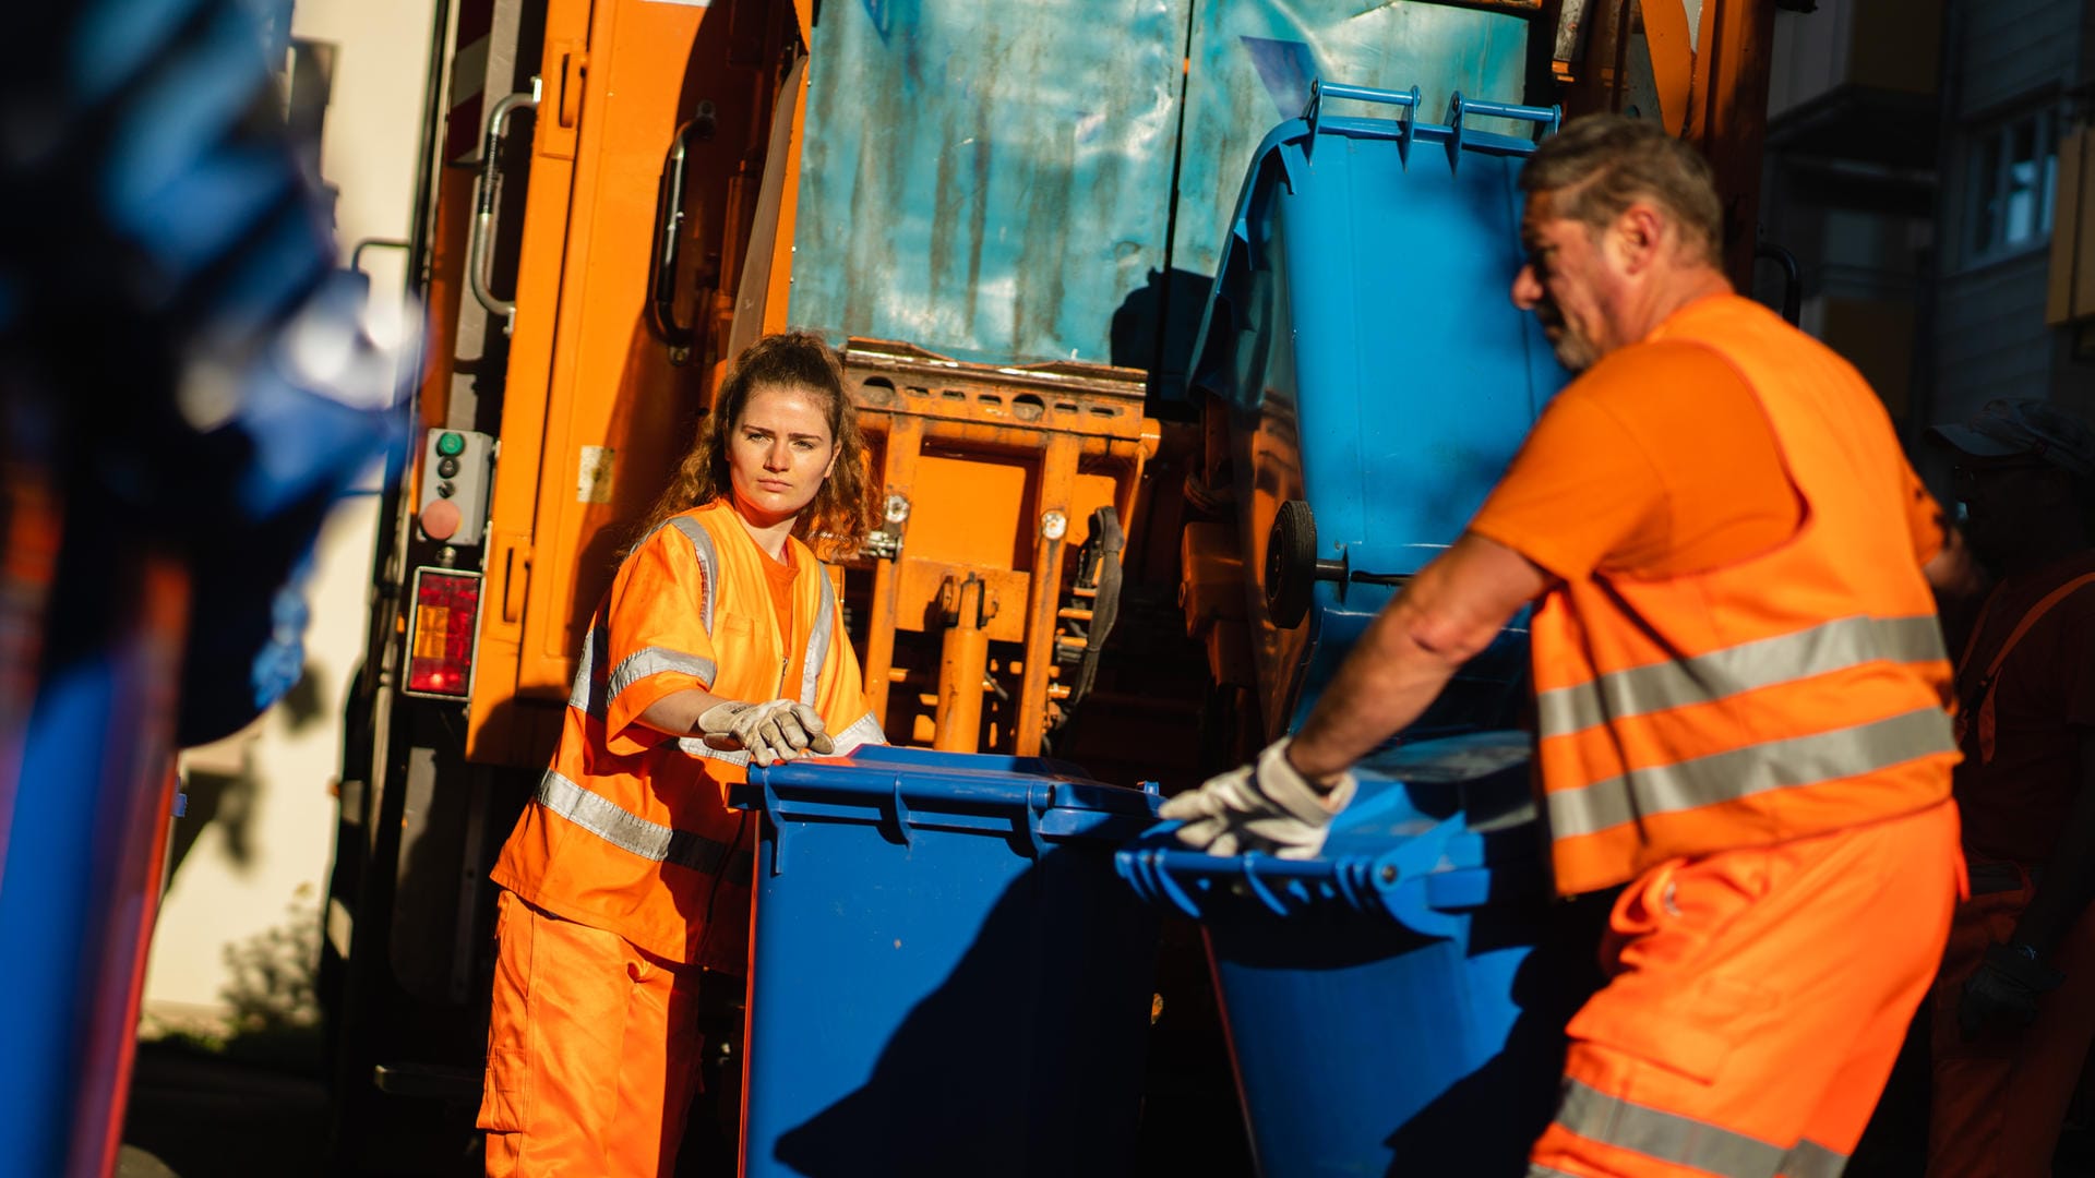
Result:
<svg viewBox="0 0 2095 1178">
<path fill-rule="evenodd" d="M 499 897 L 488 1178 L 656 1178 L 698 1086 L 698 966 Z"/>
</svg>

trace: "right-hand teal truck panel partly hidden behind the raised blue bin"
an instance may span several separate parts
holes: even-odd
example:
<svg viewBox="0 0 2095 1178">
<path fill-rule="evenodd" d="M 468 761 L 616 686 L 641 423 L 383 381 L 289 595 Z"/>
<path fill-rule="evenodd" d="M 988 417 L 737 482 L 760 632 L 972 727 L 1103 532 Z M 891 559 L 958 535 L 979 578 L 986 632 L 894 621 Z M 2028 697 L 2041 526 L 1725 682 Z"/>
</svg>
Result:
<svg viewBox="0 0 2095 1178">
<path fill-rule="evenodd" d="M 1527 21 L 1425 0 L 1230 0 L 1194 15 L 1186 163 L 1171 264 L 1215 275 L 1253 153 L 1303 113 L 1309 82 L 1410 90 L 1425 119 L 1448 96 L 1519 103 Z M 1335 105 L 1332 113 L 1368 113 Z"/>
</svg>

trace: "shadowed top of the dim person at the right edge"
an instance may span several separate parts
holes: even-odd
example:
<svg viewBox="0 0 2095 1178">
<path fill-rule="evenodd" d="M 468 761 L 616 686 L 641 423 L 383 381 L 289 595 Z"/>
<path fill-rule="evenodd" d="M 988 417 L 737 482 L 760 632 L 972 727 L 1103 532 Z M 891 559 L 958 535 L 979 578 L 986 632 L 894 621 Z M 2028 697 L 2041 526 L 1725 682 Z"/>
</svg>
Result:
<svg viewBox="0 0 2095 1178">
<path fill-rule="evenodd" d="M 2030 606 L 2085 572 L 2095 572 L 2095 551 L 2003 581 L 1971 658 L 1957 669 L 1957 698 L 1976 706 L 1976 679 Z M 1980 757 L 1973 723 L 1957 765 L 1965 847 L 1986 859 L 2043 866 L 2080 792 L 2080 736 L 2095 727 L 2095 585 L 2055 604 L 2007 654 L 1992 688 L 1992 761 Z"/>
</svg>

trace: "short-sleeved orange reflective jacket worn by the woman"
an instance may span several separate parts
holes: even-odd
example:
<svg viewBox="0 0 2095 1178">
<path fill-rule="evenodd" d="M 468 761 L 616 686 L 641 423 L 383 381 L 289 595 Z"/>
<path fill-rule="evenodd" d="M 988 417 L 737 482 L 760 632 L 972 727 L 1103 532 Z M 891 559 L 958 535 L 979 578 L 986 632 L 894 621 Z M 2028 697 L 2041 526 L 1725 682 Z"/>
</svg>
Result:
<svg viewBox="0 0 2095 1178">
<path fill-rule="evenodd" d="M 637 719 L 670 692 L 702 688 L 800 700 L 840 755 L 884 742 L 836 589 L 807 545 L 788 545 L 802 658 L 779 635 L 769 558 L 727 503 L 672 516 L 635 547 L 582 641 L 559 748 L 494 864 L 497 885 L 660 958 L 742 968 L 752 824 L 727 809 L 727 786 L 746 778 L 748 755 Z M 733 891 L 714 906 L 721 885 Z M 721 924 L 714 937 L 708 918 Z"/>
</svg>

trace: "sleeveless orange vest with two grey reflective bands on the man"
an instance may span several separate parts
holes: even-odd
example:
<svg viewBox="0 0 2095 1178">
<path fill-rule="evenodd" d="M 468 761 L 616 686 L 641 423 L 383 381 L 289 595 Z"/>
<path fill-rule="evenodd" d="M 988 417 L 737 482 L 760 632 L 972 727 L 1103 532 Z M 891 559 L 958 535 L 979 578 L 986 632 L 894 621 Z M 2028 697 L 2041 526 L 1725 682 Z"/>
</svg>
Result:
<svg viewBox="0 0 2095 1178">
<path fill-rule="evenodd" d="M 1594 572 L 1542 597 L 1536 759 L 1563 895 L 1936 805 L 1957 763 L 1950 664 L 1883 405 L 1743 298 L 1699 300 L 1651 340 L 1697 342 L 1739 369 L 1802 524 L 1710 572 Z"/>
</svg>

